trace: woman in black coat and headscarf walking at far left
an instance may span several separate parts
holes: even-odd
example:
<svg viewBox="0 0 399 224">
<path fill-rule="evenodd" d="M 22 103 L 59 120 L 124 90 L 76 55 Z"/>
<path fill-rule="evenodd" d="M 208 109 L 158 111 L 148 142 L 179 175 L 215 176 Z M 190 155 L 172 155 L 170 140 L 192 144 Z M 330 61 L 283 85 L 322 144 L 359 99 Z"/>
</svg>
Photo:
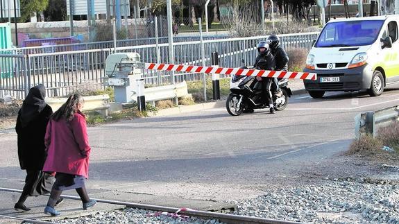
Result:
<svg viewBox="0 0 399 224">
<path fill-rule="evenodd" d="M 21 197 L 14 205 L 17 211 L 31 210 L 24 203 L 28 196 L 34 195 L 35 182 L 42 175 L 46 160 L 44 135 L 53 110 L 44 102 L 45 95 L 44 85 L 32 87 L 18 112 L 15 126 L 18 135 L 18 158 L 21 169 L 26 170 L 26 178 Z"/>
</svg>

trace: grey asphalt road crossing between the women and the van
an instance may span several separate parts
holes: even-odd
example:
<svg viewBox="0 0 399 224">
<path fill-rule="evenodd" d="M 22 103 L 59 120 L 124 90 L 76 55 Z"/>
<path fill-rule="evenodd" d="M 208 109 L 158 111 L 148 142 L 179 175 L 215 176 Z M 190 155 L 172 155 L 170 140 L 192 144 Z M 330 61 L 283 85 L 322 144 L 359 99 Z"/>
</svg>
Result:
<svg viewBox="0 0 399 224">
<path fill-rule="evenodd" d="M 379 97 L 303 94 L 277 114 L 255 110 L 232 117 L 216 107 L 91 127 L 87 187 L 200 200 L 253 197 L 342 158 L 355 136 L 355 115 L 399 105 L 398 96 L 395 89 Z M 22 189 L 15 132 L 0 131 L 0 145 L 0 187 Z"/>
</svg>

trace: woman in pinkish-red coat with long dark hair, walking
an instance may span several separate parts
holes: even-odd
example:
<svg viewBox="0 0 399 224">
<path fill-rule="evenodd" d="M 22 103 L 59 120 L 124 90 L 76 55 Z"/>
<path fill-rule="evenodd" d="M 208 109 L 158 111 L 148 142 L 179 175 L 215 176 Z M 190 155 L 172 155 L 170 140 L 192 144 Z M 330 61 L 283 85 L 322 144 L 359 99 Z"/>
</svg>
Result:
<svg viewBox="0 0 399 224">
<path fill-rule="evenodd" d="M 83 104 L 83 96 L 71 94 L 67 102 L 51 116 L 47 125 L 44 137 L 47 158 L 43 171 L 56 172 L 56 182 L 44 209 L 44 213 L 51 216 L 60 215 L 54 206 L 65 190 L 76 189 L 82 200 L 83 209 L 96 204 L 96 200 L 90 200 L 85 188 L 91 148 L 87 137 L 85 115 L 80 112 Z"/>
</svg>

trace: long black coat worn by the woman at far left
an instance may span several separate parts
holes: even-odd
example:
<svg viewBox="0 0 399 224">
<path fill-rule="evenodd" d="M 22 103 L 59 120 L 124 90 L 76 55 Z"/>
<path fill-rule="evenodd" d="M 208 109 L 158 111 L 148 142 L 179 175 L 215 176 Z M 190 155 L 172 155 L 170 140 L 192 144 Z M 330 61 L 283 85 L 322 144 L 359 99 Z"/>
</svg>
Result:
<svg viewBox="0 0 399 224">
<path fill-rule="evenodd" d="M 19 110 L 15 130 L 18 135 L 18 158 L 21 169 L 43 169 L 46 160 L 44 135 L 51 114 L 53 114 L 53 110 L 46 105 L 34 120 L 23 127 L 20 119 L 21 110 Z"/>
</svg>

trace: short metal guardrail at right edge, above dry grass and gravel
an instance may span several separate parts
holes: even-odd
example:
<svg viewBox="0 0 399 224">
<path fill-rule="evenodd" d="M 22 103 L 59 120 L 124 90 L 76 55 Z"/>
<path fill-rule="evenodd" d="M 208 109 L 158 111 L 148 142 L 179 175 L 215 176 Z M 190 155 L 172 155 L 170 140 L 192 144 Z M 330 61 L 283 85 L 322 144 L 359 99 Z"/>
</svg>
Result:
<svg viewBox="0 0 399 224">
<path fill-rule="evenodd" d="M 378 129 L 387 127 L 395 121 L 399 121 L 399 106 L 357 114 L 355 117 L 355 136 L 357 139 L 365 134 L 375 137 Z"/>
</svg>

